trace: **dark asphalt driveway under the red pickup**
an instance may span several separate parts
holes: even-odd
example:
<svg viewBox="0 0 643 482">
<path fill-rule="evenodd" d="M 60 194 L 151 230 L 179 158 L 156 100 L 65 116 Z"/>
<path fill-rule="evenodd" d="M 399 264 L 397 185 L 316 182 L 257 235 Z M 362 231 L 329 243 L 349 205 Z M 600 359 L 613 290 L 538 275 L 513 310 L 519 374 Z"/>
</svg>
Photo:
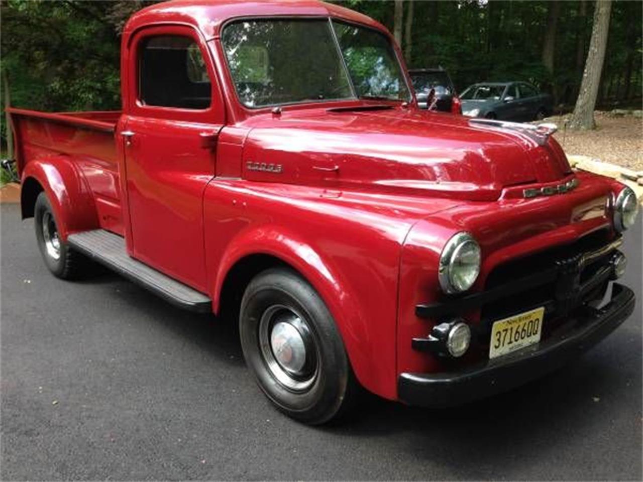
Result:
<svg viewBox="0 0 643 482">
<path fill-rule="evenodd" d="M 642 226 L 625 282 L 642 286 Z M 642 309 L 563 370 L 457 409 L 365 397 L 343 425 L 271 407 L 234 324 L 118 276 L 49 274 L 1 208 L 1 468 L 8 479 L 641 480 Z"/>
</svg>

